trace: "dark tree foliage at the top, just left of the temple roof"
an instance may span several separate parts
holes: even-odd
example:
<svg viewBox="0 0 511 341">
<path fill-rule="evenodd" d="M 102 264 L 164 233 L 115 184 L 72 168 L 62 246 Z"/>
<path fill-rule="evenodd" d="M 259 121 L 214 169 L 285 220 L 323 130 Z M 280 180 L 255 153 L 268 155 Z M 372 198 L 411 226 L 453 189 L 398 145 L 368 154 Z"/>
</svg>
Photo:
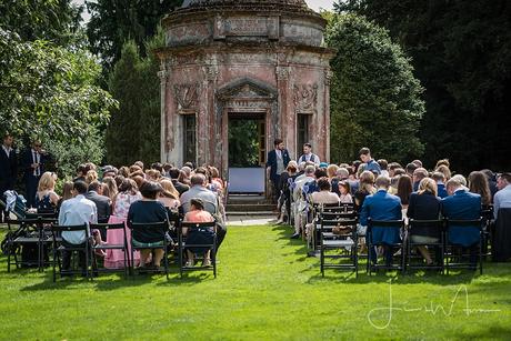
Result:
<svg viewBox="0 0 511 341">
<path fill-rule="evenodd" d="M 164 14 L 182 0 L 94 0 L 86 1 L 91 13 L 87 34 L 91 51 L 102 60 L 107 73 L 120 59 L 122 46 L 131 39 L 142 57 L 144 41 L 154 36 Z"/>
</svg>

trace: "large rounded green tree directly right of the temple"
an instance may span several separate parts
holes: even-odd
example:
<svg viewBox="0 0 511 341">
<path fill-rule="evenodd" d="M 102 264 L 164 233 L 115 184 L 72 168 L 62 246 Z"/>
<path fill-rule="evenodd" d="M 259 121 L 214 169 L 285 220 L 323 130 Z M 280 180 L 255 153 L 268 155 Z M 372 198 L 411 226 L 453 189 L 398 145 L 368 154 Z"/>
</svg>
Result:
<svg viewBox="0 0 511 341">
<path fill-rule="evenodd" d="M 393 161 L 420 157 L 424 103 L 410 60 L 388 32 L 353 14 L 325 14 L 331 61 L 331 158 L 350 161 L 370 147 Z"/>
</svg>

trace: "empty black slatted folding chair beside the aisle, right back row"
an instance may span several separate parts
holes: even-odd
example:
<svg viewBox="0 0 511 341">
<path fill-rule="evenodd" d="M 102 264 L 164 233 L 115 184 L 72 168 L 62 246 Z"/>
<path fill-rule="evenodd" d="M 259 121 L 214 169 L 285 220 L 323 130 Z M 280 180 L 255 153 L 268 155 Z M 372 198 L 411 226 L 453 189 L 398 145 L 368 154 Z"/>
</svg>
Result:
<svg viewBox="0 0 511 341">
<path fill-rule="evenodd" d="M 324 277 L 324 269 L 347 269 L 353 270 L 355 277 L 358 277 L 359 261 L 357 218 L 347 219 L 342 215 L 340 217 L 339 213 L 322 213 L 320 221 L 321 230 L 319 248 L 321 275 Z M 334 231 L 334 229 L 338 229 L 339 231 Z M 327 253 L 328 251 L 337 251 L 338 253 Z M 350 260 L 350 262 L 342 262 L 342 260 L 345 259 Z M 340 260 L 340 262 L 327 263 L 325 260 Z"/>
</svg>

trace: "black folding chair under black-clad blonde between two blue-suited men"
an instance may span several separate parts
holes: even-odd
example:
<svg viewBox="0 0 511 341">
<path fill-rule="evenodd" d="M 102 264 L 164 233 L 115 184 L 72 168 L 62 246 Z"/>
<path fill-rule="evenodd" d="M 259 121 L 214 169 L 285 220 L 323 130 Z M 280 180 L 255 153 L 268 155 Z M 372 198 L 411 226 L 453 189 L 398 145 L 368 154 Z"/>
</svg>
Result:
<svg viewBox="0 0 511 341">
<path fill-rule="evenodd" d="M 437 238 L 437 241 L 414 242 L 414 235 L 422 235 L 424 229 L 430 230 L 431 237 Z M 422 232 L 422 233 L 421 233 Z M 443 273 L 443 247 L 444 247 L 444 221 L 437 220 L 415 220 L 410 219 L 408 224 L 407 235 L 407 270 L 442 270 Z M 428 265 L 423 262 L 420 253 L 413 253 L 413 250 L 419 247 L 431 248 L 435 251 L 433 264 Z"/>
</svg>

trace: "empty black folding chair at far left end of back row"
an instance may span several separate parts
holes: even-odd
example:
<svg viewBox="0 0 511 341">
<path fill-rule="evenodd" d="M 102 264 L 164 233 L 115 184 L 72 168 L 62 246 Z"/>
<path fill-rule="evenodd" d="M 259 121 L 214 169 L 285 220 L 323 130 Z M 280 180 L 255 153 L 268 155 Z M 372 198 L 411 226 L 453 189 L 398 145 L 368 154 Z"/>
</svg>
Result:
<svg viewBox="0 0 511 341">
<path fill-rule="evenodd" d="M 7 220 L 7 271 L 11 271 L 11 264 L 19 269 L 22 267 L 37 265 L 38 271 L 43 271 L 49 265 L 48 249 L 51 245 L 49 227 L 57 221 L 53 214 L 33 214 L 31 218 Z M 37 249 L 37 254 L 31 250 Z M 23 260 L 24 255 L 24 260 Z M 21 257 L 21 260 L 19 260 Z M 14 263 L 11 262 L 14 259 Z"/>
</svg>

